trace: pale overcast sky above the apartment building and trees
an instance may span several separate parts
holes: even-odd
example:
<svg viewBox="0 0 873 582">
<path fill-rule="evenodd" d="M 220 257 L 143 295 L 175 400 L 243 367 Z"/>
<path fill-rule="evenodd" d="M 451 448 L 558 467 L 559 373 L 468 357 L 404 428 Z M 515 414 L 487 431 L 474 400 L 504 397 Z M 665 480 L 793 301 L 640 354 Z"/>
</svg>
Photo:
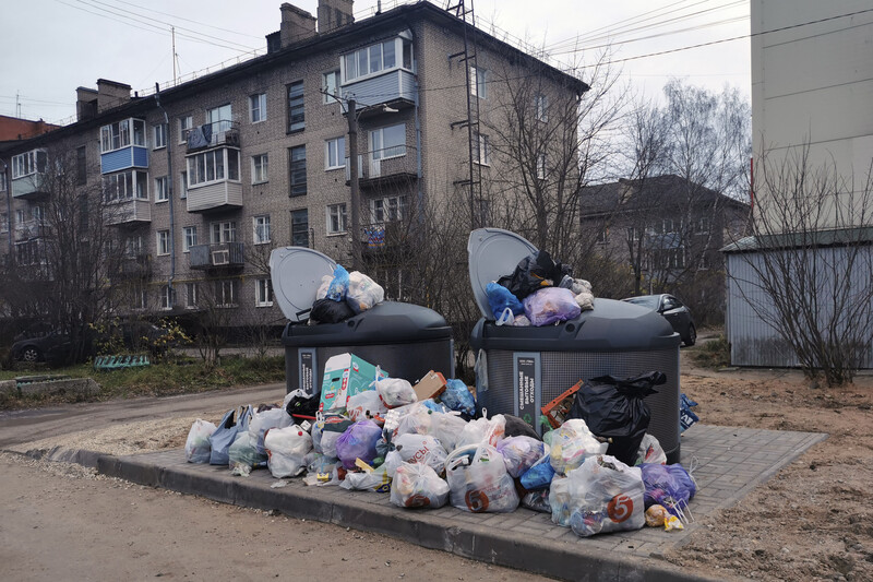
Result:
<svg viewBox="0 0 873 582">
<path fill-rule="evenodd" d="M 468 0 L 469 1 L 469 0 Z M 318 0 L 292 0 L 315 15 Z M 406 3 L 400 0 L 399 3 Z M 434 0 L 445 7 L 443 0 Z M 452 3 L 456 3 L 453 0 Z M 750 94 L 749 0 L 475 0 L 480 27 L 492 25 L 553 57 L 578 64 L 611 44 L 612 59 L 636 91 L 657 96 L 670 76 Z M 134 90 L 172 80 L 176 27 L 178 74 L 190 75 L 246 52 L 265 50 L 278 31 L 282 0 L 2 0 L 0 115 L 70 121 L 75 88 L 97 79 Z M 376 0 L 357 0 L 356 17 Z M 384 0 L 382 9 L 395 5 Z M 502 35 L 502 33 L 501 33 Z M 585 49 L 579 52 L 578 48 Z M 636 58 L 660 51 L 661 56 Z M 586 80 L 583 69 L 581 76 Z"/>
</svg>

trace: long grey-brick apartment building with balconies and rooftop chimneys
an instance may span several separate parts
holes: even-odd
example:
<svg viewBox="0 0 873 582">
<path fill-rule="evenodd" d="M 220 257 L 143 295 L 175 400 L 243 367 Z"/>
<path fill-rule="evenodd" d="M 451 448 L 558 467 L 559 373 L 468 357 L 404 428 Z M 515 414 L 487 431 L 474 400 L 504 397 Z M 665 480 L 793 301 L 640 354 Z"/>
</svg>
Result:
<svg viewBox="0 0 873 582">
<path fill-rule="evenodd" d="M 479 122 L 500 78 L 545 74 L 531 104 L 543 122 L 549 100 L 587 90 L 428 2 L 355 22 L 351 0 L 321 0 L 318 16 L 285 3 L 266 55 L 157 95 L 107 80 L 79 87 L 75 123 L 0 147 L 0 258 L 13 268 L 41 261 L 39 240 L 51 236 L 45 178 L 64 152 L 123 249 L 108 273 L 119 289 L 110 311 L 180 313 L 207 289 L 234 308 L 232 324 L 280 322 L 273 248 L 350 264 L 350 99 L 366 266 L 403 240 L 393 230 L 409 228 L 415 209 L 467 190 L 473 207 L 490 173 L 512 171 Z M 380 282 L 391 294 L 393 283 Z"/>
</svg>

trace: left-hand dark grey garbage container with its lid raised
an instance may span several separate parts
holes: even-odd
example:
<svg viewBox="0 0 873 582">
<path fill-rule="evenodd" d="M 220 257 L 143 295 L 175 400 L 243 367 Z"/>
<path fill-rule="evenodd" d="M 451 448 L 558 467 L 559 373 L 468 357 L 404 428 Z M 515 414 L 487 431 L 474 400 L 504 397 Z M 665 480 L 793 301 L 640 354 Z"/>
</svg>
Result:
<svg viewBox="0 0 873 582">
<path fill-rule="evenodd" d="M 429 370 L 454 376 L 452 328 L 432 309 L 384 301 L 339 323 L 308 325 L 321 278 L 335 268 L 331 258 L 302 247 L 271 253 L 273 295 L 289 320 L 282 334 L 288 392 L 319 393 L 325 361 L 346 352 L 410 382 Z"/>
</svg>

